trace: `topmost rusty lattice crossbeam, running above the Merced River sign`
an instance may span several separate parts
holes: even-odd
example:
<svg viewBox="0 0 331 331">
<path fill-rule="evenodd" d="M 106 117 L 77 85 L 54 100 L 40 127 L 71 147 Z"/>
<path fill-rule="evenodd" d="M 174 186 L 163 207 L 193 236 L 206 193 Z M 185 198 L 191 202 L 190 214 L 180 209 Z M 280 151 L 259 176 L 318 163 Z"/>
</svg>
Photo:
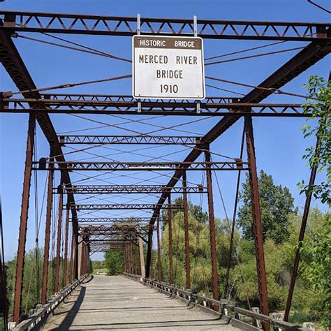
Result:
<svg viewBox="0 0 331 331">
<path fill-rule="evenodd" d="M 133 36 L 137 34 L 136 17 L 28 13 L 0 11 L 4 31 L 30 31 L 64 34 Z M 329 24 L 302 22 L 252 22 L 198 20 L 197 33 L 212 39 L 256 39 L 313 41 L 326 38 Z M 141 17 L 142 34 L 192 36 L 193 19 Z"/>
</svg>

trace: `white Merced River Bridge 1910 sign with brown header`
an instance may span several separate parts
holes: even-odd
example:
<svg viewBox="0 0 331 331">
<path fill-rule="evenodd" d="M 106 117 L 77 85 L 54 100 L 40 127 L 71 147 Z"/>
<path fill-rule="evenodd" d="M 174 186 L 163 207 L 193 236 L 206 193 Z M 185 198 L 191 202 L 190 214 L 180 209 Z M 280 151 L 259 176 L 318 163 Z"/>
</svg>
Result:
<svg viewBox="0 0 331 331">
<path fill-rule="evenodd" d="M 133 36 L 134 98 L 205 98 L 203 39 Z"/>
</svg>

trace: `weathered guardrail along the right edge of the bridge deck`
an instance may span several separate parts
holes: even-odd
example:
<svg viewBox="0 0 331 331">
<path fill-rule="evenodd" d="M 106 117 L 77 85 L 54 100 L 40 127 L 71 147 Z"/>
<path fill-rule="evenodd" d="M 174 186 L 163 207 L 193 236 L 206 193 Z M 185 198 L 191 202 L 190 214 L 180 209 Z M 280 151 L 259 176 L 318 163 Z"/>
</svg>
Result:
<svg viewBox="0 0 331 331">
<path fill-rule="evenodd" d="M 278 318 L 272 318 L 255 311 L 236 307 L 229 304 L 228 300 L 214 300 L 203 295 L 193 293 L 191 290 L 182 290 L 176 286 L 156 281 L 154 279 L 142 278 L 137 274 L 124 273 L 126 277 L 140 281 L 145 286 L 156 288 L 159 292 L 176 297 L 179 300 L 186 302 L 186 304 L 196 305 L 198 308 L 208 311 L 209 313 L 221 316 L 223 321 L 227 321 L 230 325 L 240 328 L 242 330 L 261 330 L 263 324 L 270 325 L 274 331 L 279 330 L 308 330 L 299 325 L 282 321 Z M 280 317 L 280 316 L 278 316 Z"/>
</svg>

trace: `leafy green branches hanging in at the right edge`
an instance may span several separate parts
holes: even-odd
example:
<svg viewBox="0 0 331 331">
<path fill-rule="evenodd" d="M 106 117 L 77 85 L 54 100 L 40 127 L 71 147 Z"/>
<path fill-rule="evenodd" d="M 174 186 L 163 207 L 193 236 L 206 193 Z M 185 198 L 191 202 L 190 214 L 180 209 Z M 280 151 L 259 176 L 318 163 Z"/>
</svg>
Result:
<svg viewBox="0 0 331 331">
<path fill-rule="evenodd" d="M 331 205 L 331 82 L 325 82 L 323 78 L 313 75 L 309 78 L 307 88 L 307 103 L 304 104 L 304 112 L 311 115 L 307 121 L 313 125 L 304 124 L 302 132 L 304 138 L 315 135 L 318 138 L 317 148 L 311 146 L 306 149 L 307 159 L 312 168 L 316 165 L 318 172 L 326 172 L 326 179 L 320 184 L 314 184 L 311 191 L 314 198 L 320 199 L 322 203 Z M 301 193 L 309 192 L 309 184 L 304 181 L 298 184 Z"/>
</svg>

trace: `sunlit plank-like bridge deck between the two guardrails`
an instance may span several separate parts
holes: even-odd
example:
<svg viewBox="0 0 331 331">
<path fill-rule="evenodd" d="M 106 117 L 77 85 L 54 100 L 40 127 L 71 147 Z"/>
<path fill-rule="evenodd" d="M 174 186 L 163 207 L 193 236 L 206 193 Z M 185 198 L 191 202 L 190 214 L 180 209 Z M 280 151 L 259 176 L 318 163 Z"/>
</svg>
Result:
<svg viewBox="0 0 331 331">
<path fill-rule="evenodd" d="M 237 330 L 137 281 L 96 276 L 68 297 L 43 330 Z"/>
</svg>

